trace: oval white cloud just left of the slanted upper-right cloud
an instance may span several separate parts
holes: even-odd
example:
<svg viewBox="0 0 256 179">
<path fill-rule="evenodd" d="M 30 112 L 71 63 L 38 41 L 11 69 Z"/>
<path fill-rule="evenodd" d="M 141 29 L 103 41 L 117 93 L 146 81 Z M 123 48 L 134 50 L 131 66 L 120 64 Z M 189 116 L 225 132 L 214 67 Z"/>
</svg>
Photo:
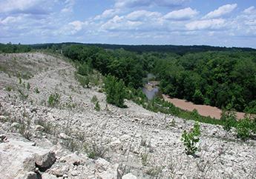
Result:
<svg viewBox="0 0 256 179">
<path fill-rule="evenodd" d="M 198 11 L 192 10 L 190 7 L 187 7 L 182 10 L 174 10 L 170 13 L 166 14 L 163 18 L 170 19 L 170 20 L 188 20 L 197 16 Z"/>
</svg>

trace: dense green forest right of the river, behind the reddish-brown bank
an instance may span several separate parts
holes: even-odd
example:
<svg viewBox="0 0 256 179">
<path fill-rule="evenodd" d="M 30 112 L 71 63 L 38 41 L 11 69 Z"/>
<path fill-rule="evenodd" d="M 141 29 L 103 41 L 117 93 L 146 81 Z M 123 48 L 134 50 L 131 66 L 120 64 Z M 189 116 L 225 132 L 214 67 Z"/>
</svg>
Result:
<svg viewBox="0 0 256 179">
<path fill-rule="evenodd" d="M 195 104 L 255 113 L 256 53 L 206 52 L 166 56 L 154 73 L 163 93 Z"/>
</svg>

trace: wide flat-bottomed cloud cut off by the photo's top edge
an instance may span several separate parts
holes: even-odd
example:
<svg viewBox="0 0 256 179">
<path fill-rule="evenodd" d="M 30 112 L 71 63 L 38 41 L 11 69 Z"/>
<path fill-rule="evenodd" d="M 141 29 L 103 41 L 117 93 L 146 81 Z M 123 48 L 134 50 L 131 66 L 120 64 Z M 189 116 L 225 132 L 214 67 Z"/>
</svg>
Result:
<svg viewBox="0 0 256 179">
<path fill-rule="evenodd" d="M 117 8 L 133 8 L 145 7 L 151 5 L 174 7 L 180 6 L 189 0 L 116 0 L 115 7 Z"/>
</svg>

